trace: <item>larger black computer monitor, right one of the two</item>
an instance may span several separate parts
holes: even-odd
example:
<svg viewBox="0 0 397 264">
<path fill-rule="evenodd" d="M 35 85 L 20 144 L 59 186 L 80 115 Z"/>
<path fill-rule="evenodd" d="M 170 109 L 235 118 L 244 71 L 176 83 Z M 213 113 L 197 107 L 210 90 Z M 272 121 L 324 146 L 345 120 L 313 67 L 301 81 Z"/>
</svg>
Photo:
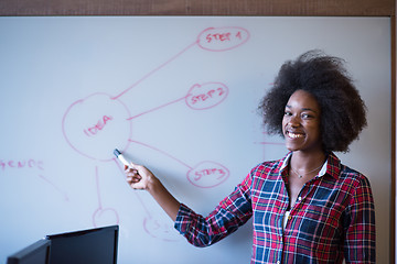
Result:
<svg viewBox="0 0 397 264">
<path fill-rule="evenodd" d="M 46 235 L 50 264 L 116 264 L 118 226 Z"/>
</svg>

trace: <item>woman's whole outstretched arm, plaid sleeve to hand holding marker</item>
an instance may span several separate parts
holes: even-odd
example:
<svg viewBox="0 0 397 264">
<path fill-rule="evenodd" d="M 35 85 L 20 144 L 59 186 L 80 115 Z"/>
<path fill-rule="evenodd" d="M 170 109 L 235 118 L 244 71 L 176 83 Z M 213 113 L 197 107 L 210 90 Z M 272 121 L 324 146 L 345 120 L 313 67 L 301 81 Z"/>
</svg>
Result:
<svg viewBox="0 0 397 264">
<path fill-rule="evenodd" d="M 127 182 L 133 189 L 144 189 L 174 221 L 175 229 L 195 246 L 207 246 L 222 240 L 244 224 L 253 215 L 249 175 L 215 210 L 204 218 L 180 204 L 144 166 L 126 166 Z M 238 200 L 238 201 L 237 201 Z"/>
</svg>

